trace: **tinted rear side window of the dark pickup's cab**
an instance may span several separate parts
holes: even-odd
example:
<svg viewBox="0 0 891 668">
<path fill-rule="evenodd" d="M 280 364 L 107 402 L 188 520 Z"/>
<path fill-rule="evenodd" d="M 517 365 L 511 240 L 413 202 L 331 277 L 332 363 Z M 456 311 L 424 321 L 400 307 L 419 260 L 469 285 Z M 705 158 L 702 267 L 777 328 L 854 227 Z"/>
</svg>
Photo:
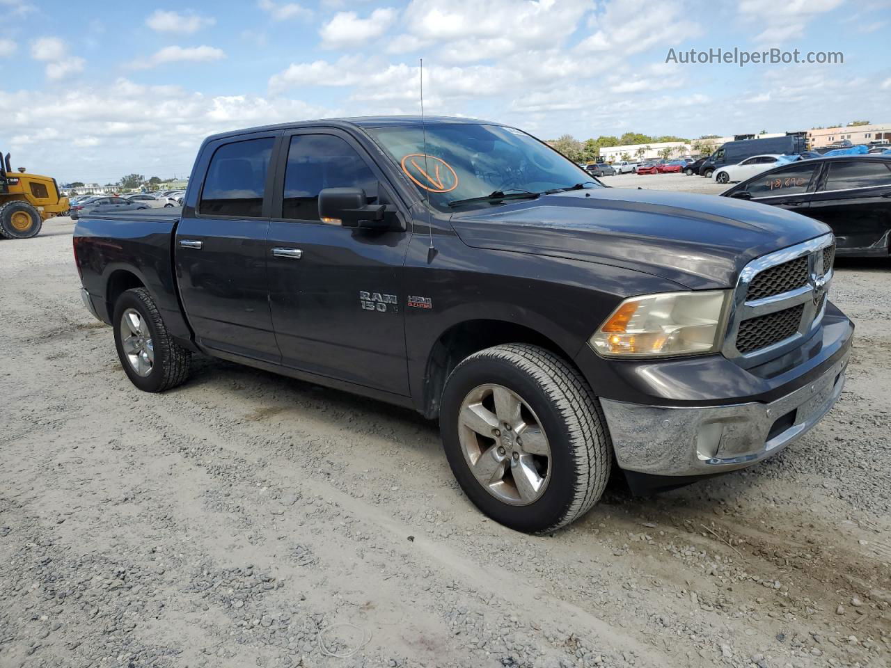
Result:
<svg viewBox="0 0 891 668">
<path fill-rule="evenodd" d="M 273 137 L 264 137 L 220 146 L 210 159 L 199 213 L 242 218 L 262 216 L 266 172 L 274 142 Z"/>
</svg>

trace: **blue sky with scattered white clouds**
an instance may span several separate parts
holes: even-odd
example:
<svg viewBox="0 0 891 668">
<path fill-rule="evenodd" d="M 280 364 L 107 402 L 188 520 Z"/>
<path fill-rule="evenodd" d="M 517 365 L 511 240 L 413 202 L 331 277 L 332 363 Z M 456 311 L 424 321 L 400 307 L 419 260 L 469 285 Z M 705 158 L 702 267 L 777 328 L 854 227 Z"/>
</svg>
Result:
<svg viewBox="0 0 891 668">
<path fill-rule="evenodd" d="M 426 113 L 543 139 L 887 123 L 889 36 L 891 0 L 0 0 L 0 150 L 61 183 L 182 176 L 223 130 L 416 114 L 421 58 Z M 666 62 L 718 48 L 844 63 Z"/>
</svg>

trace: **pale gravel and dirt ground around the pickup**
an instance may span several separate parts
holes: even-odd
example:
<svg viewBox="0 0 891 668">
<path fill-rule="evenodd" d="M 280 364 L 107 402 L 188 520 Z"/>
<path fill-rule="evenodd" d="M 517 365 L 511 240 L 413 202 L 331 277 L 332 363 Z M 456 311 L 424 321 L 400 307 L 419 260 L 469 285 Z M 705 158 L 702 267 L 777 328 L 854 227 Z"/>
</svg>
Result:
<svg viewBox="0 0 891 668">
<path fill-rule="evenodd" d="M 137 391 L 72 229 L 0 241 L 3 668 L 891 663 L 891 263 L 838 263 L 854 355 L 803 440 L 533 538 L 412 411 L 197 356 Z"/>
</svg>

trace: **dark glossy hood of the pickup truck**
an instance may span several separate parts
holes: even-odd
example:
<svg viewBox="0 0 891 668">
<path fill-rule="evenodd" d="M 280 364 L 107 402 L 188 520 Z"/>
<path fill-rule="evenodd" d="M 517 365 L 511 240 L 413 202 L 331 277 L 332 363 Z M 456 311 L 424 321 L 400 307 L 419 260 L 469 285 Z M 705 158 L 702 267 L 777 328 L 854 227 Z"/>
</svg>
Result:
<svg viewBox="0 0 891 668">
<path fill-rule="evenodd" d="M 452 217 L 472 248 L 569 257 L 650 273 L 691 289 L 730 288 L 755 257 L 830 228 L 744 200 L 592 188 Z"/>
</svg>

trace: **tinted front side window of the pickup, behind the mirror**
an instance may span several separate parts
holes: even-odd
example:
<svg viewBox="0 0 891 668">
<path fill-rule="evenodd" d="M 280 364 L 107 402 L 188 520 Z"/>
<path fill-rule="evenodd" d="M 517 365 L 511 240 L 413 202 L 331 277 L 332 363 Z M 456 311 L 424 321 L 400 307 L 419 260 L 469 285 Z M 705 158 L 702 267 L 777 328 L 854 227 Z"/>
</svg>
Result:
<svg viewBox="0 0 891 668">
<path fill-rule="evenodd" d="M 378 195 L 378 178 L 356 150 L 333 134 L 295 134 L 284 172 L 282 218 L 319 220 L 319 191 L 362 188 Z"/>
</svg>

